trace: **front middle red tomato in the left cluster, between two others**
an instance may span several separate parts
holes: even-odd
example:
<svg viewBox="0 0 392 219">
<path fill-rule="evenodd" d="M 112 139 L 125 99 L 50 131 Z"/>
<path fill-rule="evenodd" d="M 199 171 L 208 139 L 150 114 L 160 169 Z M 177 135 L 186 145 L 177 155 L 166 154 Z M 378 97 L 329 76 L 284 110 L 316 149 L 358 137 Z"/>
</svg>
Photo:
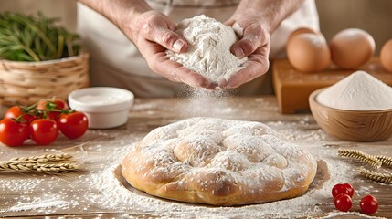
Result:
<svg viewBox="0 0 392 219">
<path fill-rule="evenodd" d="M 55 120 L 38 119 L 30 123 L 30 136 L 37 144 L 47 145 L 58 137 L 58 123 Z"/>
</svg>

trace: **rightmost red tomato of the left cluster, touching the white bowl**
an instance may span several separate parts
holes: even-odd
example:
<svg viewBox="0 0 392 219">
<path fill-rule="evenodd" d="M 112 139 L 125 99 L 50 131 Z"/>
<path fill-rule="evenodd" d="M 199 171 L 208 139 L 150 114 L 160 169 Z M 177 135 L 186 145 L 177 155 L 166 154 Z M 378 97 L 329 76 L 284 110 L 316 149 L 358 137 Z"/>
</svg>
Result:
<svg viewBox="0 0 392 219">
<path fill-rule="evenodd" d="M 61 115 L 58 120 L 61 133 L 69 139 L 76 139 L 86 133 L 89 128 L 89 121 L 83 112 L 75 111 Z"/>
</svg>

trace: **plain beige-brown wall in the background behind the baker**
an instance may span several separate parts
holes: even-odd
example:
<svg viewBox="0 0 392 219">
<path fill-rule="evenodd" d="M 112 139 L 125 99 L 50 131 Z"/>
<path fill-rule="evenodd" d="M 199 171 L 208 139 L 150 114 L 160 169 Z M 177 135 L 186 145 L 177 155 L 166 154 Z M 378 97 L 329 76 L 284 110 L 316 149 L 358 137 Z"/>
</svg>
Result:
<svg viewBox="0 0 392 219">
<path fill-rule="evenodd" d="M 329 40 L 338 31 L 357 27 L 368 31 L 376 40 L 376 55 L 380 47 L 392 38 L 391 0 L 316 0 L 320 25 Z M 0 0 L 0 11 L 21 10 L 47 16 L 60 16 L 65 26 L 75 30 L 75 0 Z"/>
</svg>

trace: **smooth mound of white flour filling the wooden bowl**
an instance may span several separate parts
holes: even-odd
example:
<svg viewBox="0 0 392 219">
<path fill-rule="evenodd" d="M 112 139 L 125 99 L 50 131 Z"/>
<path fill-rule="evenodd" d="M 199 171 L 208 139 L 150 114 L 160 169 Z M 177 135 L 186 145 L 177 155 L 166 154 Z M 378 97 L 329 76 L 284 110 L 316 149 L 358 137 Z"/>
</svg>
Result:
<svg viewBox="0 0 392 219">
<path fill-rule="evenodd" d="M 392 88 L 365 71 L 356 71 L 323 90 L 319 103 L 341 110 L 392 109 Z"/>
</svg>

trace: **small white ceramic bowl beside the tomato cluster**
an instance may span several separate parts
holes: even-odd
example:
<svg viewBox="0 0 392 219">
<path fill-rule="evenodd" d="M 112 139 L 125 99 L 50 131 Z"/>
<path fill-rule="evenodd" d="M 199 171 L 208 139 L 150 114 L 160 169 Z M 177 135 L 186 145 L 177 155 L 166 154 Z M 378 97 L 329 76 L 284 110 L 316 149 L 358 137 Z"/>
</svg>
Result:
<svg viewBox="0 0 392 219">
<path fill-rule="evenodd" d="M 91 87 L 72 91 L 68 100 L 71 109 L 86 114 L 89 128 L 109 129 L 127 122 L 134 95 L 126 89 Z"/>
</svg>

